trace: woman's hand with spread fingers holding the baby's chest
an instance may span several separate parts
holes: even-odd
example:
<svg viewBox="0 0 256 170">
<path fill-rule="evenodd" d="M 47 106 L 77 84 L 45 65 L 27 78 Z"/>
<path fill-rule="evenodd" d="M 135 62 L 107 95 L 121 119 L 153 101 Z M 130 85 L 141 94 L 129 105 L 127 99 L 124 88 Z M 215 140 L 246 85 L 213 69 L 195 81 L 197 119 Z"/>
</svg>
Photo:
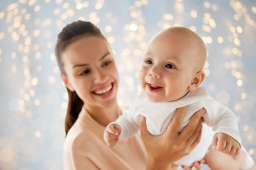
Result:
<svg viewBox="0 0 256 170">
<path fill-rule="evenodd" d="M 146 147 L 147 169 L 170 169 L 181 157 L 189 154 L 201 140 L 201 123 L 205 109 L 197 111 L 181 132 L 178 132 L 186 107 L 178 108 L 163 135 L 151 135 L 146 129 L 146 118 L 139 123 L 142 140 Z"/>
</svg>

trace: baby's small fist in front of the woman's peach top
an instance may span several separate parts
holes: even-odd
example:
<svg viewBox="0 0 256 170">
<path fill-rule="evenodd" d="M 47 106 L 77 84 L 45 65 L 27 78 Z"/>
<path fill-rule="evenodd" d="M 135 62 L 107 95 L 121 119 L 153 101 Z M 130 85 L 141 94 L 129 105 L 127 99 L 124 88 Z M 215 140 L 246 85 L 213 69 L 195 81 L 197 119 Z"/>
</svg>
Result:
<svg viewBox="0 0 256 170">
<path fill-rule="evenodd" d="M 107 146 L 114 147 L 114 145 L 119 140 L 119 134 L 121 132 L 121 127 L 117 124 L 107 125 L 107 128 L 104 132 L 104 140 L 107 143 Z"/>
</svg>

